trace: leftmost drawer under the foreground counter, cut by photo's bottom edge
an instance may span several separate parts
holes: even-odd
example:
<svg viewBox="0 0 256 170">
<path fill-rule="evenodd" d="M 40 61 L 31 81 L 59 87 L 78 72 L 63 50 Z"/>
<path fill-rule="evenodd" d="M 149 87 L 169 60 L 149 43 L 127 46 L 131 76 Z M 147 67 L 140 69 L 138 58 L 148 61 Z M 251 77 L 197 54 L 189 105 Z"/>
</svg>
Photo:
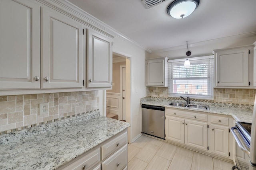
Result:
<svg viewBox="0 0 256 170">
<path fill-rule="evenodd" d="M 100 148 L 94 150 L 93 152 L 90 152 L 89 154 L 86 154 L 84 157 L 80 158 L 76 162 L 63 168 L 63 170 L 82 170 L 83 166 L 85 166 L 85 169 L 87 169 L 91 166 L 94 166 L 98 162 L 100 162 Z"/>
</svg>

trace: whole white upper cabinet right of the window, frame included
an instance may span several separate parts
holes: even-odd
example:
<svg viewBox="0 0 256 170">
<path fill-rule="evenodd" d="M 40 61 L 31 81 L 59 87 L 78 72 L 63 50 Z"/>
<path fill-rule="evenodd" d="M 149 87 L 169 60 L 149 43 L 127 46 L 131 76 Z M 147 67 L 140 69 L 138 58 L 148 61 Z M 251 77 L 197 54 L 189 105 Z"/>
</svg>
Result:
<svg viewBox="0 0 256 170">
<path fill-rule="evenodd" d="M 214 50 L 214 88 L 253 88 L 252 46 Z"/>
</svg>

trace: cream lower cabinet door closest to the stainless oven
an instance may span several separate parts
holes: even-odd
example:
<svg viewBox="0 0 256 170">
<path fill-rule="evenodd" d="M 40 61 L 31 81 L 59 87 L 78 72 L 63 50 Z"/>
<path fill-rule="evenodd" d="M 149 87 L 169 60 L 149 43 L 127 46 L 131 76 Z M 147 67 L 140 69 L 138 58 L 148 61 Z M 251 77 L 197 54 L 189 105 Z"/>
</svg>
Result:
<svg viewBox="0 0 256 170">
<path fill-rule="evenodd" d="M 211 144 L 212 153 L 228 157 L 228 127 L 211 125 Z"/>
</svg>

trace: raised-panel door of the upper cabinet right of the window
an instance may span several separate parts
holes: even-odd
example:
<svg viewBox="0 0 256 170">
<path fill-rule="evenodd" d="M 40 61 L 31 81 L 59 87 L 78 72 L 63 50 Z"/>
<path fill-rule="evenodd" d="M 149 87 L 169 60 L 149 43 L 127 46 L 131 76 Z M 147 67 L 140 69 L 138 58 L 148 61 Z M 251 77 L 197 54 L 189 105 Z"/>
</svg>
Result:
<svg viewBox="0 0 256 170">
<path fill-rule="evenodd" d="M 216 54 L 215 86 L 249 86 L 248 49 L 219 51 Z"/>
</svg>

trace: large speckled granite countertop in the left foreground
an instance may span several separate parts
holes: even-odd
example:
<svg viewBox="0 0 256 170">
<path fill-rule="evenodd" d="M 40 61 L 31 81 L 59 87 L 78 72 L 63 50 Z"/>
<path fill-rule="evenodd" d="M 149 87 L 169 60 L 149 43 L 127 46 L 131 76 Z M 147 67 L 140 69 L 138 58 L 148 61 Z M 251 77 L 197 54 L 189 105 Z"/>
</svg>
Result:
<svg viewBox="0 0 256 170">
<path fill-rule="evenodd" d="M 91 112 L 0 136 L 0 169 L 56 169 L 130 127 Z"/>
</svg>

